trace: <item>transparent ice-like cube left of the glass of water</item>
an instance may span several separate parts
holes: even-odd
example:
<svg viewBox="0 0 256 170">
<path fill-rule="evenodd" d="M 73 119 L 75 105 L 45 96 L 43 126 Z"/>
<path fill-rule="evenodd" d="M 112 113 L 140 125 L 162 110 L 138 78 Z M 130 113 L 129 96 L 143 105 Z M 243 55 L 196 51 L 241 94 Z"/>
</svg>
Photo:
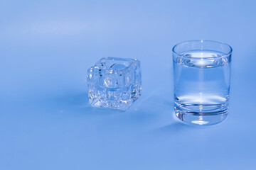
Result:
<svg viewBox="0 0 256 170">
<path fill-rule="evenodd" d="M 105 57 L 90 67 L 87 74 L 91 106 L 125 111 L 141 95 L 139 60 Z"/>
</svg>

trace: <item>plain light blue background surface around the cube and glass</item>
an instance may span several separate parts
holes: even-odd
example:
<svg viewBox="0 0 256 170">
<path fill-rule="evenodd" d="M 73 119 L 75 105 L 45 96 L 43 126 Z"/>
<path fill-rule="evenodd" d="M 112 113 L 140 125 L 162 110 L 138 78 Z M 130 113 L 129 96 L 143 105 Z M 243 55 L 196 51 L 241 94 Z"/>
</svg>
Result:
<svg viewBox="0 0 256 170">
<path fill-rule="evenodd" d="M 0 169 L 256 169 L 255 1 L 0 1 Z M 174 120 L 171 48 L 233 47 L 230 113 Z M 128 111 L 90 108 L 87 69 L 142 62 Z"/>
</svg>

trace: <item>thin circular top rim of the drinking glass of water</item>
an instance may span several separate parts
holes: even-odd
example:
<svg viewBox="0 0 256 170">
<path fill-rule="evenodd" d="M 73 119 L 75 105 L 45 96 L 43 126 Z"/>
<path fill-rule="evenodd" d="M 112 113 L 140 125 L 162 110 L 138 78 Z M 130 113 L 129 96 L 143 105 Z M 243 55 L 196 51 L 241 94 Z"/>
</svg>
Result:
<svg viewBox="0 0 256 170">
<path fill-rule="evenodd" d="M 226 46 L 229 47 L 229 49 L 230 49 L 228 52 L 225 52 L 223 55 L 220 55 L 220 56 L 218 56 L 218 57 L 200 57 L 200 58 L 197 58 L 197 57 L 189 57 L 189 58 L 193 58 L 193 59 L 215 59 L 215 58 L 223 58 L 223 57 L 227 57 L 227 56 L 231 55 L 232 52 L 233 52 L 233 48 L 232 48 L 230 45 L 228 45 L 228 44 L 226 44 L 226 43 L 224 43 L 224 42 L 218 42 L 218 41 L 214 41 L 214 40 L 187 40 L 187 41 L 183 41 L 183 42 L 178 42 L 178 44 L 174 45 L 174 47 L 172 48 L 172 52 L 173 52 L 174 54 L 180 56 L 180 57 L 187 58 L 186 56 L 181 55 L 180 53 L 176 52 L 175 48 L 178 47 L 178 45 L 182 45 L 182 44 L 188 43 L 188 42 L 201 42 L 201 43 L 203 43 L 203 42 L 213 42 L 213 43 L 216 43 L 216 44 L 219 44 L 219 45 L 226 45 Z"/>
</svg>

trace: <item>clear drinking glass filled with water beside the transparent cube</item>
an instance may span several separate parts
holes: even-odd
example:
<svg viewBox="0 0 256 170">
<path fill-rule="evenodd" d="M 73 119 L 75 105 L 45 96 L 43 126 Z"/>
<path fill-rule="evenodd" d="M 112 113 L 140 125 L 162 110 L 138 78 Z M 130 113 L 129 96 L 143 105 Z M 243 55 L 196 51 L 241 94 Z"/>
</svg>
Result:
<svg viewBox="0 0 256 170">
<path fill-rule="evenodd" d="M 228 115 L 232 47 L 193 40 L 173 48 L 174 105 L 178 119 L 190 125 L 213 125 Z"/>
</svg>

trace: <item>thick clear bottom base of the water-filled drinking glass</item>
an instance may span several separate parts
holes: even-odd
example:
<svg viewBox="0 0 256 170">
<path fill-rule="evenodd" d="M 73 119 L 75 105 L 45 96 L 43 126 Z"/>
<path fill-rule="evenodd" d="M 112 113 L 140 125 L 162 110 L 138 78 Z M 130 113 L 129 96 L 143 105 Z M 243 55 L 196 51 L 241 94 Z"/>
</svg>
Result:
<svg viewBox="0 0 256 170">
<path fill-rule="evenodd" d="M 221 111 L 191 112 L 175 106 L 175 115 L 179 120 L 188 125 L 215 125 L 223 122 L 228 115 L 228 106 Z"/>
</svg>

